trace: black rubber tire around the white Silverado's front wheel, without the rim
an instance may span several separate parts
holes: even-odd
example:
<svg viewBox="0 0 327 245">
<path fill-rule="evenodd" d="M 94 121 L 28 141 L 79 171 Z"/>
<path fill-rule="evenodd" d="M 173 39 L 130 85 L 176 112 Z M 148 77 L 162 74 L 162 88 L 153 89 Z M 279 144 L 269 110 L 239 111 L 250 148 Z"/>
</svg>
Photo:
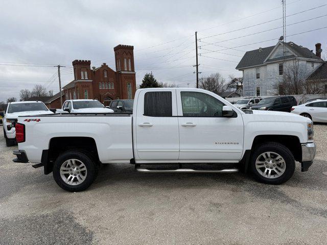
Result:
<svg viewBox="0 0 327 245">
<path fill-rule="evenodd" d="M 273 152 L 279 154 L 285 160 L 285 171 L 278 178 L 269 179 L 262 176 L 258 170 L 255 168 L 256 159 L 265 152 Z M 285 145 L 277 142 L 267 142 L 260 145 L 251 155 L 250 159 L 250 171 L 253 174 L 253 177 L 262 183 L 279 185 L 288 181 L 294 174 L 295 170 L 295 160 L 291 151 L 285 147 Z"/>
</svg>

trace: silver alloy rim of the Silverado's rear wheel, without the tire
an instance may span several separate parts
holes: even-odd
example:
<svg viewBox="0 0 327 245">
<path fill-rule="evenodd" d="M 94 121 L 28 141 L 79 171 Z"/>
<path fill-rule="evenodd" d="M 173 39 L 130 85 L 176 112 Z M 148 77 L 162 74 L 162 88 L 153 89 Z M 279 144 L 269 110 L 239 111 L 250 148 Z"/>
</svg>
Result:
<svg viewBox="0 0 327 245">
<path fill-rule="evenodd" d="M 78 159 L 69 159 L 61 164 L 60 177 L 68 185 L 81 184 L 86 179 L 86 175 L 86 166 Z"/>
</svg>

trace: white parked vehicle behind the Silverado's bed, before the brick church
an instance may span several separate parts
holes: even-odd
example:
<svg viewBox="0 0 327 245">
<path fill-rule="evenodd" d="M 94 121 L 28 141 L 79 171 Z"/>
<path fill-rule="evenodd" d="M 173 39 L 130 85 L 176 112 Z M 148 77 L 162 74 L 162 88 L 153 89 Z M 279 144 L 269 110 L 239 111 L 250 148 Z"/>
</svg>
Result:
<svg viewBox="0 0 327 245">
<path fill-rule="evenodd" d="M 98 100 L 67 100 L 57 113 L 113 113 L 113 110 L 104 107 Z"/>
</svg>

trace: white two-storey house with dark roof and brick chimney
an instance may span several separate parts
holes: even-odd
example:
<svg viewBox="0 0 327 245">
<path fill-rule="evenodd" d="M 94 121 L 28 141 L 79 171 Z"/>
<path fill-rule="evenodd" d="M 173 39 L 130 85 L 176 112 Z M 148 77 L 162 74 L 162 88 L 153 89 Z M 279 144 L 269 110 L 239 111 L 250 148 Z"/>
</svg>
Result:
<svg viewBox="0 0 327 245">
<path fill-rule="evenodd" d="M 274 46 L 246 52 L 236 66 L 243 71 L 243 96 L 278 94 L 278 84 L 283 81 L 286 68 L 294 62 L 298 65 L 298 76 L 305 80 L 324 63 L 320 58 L 320 47 L 317 43 L 314 54 L 294 42 L 284 42 L 283 47 L 283 42 L 278 41 Z"/>
</svg>

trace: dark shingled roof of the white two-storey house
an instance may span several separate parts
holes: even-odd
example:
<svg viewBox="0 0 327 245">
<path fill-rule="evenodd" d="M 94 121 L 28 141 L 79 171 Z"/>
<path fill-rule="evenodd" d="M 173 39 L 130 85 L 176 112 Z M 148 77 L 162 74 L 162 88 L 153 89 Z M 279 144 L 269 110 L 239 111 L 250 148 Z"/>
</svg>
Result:
<svg viewBox="0 0 327 245">
<path fill-rule="evenodd" d="M 242 57 L 239 64 L 236 66 L 236 69 L 264 64 L 265 60 L 268 58 L 268 56 L 270 55 L 270 53 L 272 52 L 274 47 L 276 47 L 279 43 L 282 43 L 282 42 L 278 41 L 278 43 L 276 45 L 264 47 L 264 48 L 262 48 L 261 51 L 259 49 L 247 51 L 244 54 L 244 56 Z M 298 57 L 322 61 L 321 58 L 317 57 L 307 47 L 299 46 L 294 42 L 285 42 L 284 44 L 286 47 L 289 48 L 289 50 L 291 50 Z M 288 58 L 288 59 L 295 58 L 296 57 L 295 55 L 287 56 L 284 58 Z M 274 59 L 267 60 L 266 62 L 273 62 L 273 61 L 278 61 L 278 60 L 282 60 L 282 59 L 274 58 Z"/>
</svg>

